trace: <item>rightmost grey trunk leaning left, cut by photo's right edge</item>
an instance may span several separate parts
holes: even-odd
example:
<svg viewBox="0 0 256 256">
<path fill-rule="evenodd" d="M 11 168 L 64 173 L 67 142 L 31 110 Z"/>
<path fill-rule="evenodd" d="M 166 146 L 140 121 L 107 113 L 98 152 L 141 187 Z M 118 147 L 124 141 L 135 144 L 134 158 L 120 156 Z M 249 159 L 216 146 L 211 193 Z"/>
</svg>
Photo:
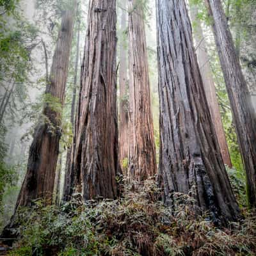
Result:
<svg viewBox="0 0 256 256">
<path fill-rule="evenodd" d="M 205 3 L 213 18 L 214 38 L 246 170 L 248 203 L 256 207 L 256 115 L 221 1 L 205 0 Z"/>
</svg>

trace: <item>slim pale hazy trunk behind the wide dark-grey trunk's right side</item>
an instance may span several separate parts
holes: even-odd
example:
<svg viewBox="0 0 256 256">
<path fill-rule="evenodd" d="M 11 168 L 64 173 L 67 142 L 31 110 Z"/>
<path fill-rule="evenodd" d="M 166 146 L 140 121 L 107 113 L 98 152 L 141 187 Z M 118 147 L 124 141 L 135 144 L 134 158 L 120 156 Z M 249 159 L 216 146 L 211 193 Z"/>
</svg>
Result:
<svg viewBox="0 0 256 256">
<path fill-rule="evenodd" d="M 214 124 L 214 128 L 217 134 L 218 142 L 220 145 L 221 156 L 225 164 L 232 168 L 230 154 L 228 152 L 227 140 L 225 137 L 225 131 L 221 121 L 220 106 L 216 96 L 216 88 L 212 77 L 211 65 L 209 63 L 209 56 L 207 53 L 207 45 L 204 39 L 204 33 L 200 20 L 197 19 L 198 10 L 191 4 L 191 19 L 196 21 L 196 27 L 194 31 L 194 38 L 196 42 L 196 53 L 198 58 L 198 64 L 200 67 L 200 74 L 204 83 L 205 95 L 211 111 L 211 120 Z"/>
</svg>

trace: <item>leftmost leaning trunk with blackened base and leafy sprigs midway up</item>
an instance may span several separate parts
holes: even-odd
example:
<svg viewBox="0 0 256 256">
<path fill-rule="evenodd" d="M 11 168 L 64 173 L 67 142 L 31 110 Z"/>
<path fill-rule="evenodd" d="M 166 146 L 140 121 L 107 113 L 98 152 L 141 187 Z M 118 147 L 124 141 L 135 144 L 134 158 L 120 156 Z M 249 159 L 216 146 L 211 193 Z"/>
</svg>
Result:
<svg viewBox="0 0 256 256">
<path fill-rule="evenodd" d="M 45 92 L 60 103 L 61 108 L 65 100 L 73 26 L 74 11 L 63 12 L 49 84 Z M 44 198 L 47 203 L 52 204 L 61 137 L 61 113 L 52 109 L 51 102 L 46 102 L 42 119 L 35 129 L 33 142 L 29 148 L 28 170 L 16 207 L 28 206 L 31 200 L 36 198 Z"/>
</svg>

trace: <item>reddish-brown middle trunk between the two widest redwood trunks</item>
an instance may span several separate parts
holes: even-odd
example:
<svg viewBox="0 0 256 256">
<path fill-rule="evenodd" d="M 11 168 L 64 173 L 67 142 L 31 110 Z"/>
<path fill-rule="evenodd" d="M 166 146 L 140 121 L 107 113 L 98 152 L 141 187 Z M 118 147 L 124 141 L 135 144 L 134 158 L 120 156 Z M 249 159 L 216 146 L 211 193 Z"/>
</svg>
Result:
<svg viewBox="0 0 256 256">
<path fill-rule="evenodd" d="M 129 0 L 129 177 L 156 174 L 156 149 L 141 1 Z"/>
</svg>

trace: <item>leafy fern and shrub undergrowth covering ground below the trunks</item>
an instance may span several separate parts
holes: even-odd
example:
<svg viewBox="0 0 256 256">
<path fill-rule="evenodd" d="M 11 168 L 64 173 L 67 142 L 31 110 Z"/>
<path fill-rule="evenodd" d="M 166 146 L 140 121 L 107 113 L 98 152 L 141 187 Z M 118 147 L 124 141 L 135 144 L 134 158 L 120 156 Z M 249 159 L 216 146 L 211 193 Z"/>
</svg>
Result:
<svg viewBox="0 0 256 256">
<path fill-rule="evenodd" d="M 118 200 L 82 203 L 76 195 L 60 208 L 35 202 L 19 212 L 19 241 L 9 255 L 256 255 L 255 215 L 220 230 L 195 214 L 188 196 L 175 194 L 173 212 L 154 182 L 137 189 Z"/>
</svg>

